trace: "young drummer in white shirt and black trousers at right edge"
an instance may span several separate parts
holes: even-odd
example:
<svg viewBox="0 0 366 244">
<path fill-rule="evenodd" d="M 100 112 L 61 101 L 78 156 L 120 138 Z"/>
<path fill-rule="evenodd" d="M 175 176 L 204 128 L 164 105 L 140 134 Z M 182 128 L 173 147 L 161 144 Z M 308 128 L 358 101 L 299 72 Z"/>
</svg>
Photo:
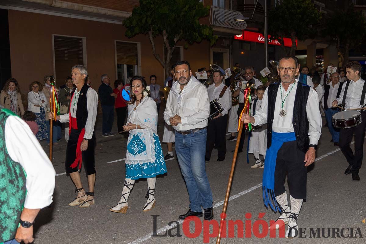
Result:
<svg viewBox="0 0 366 244">
<path fill-rule="evenodd" d="M 361 68 L 361 64 L 356 61 L 346 64 L 346 76 L 350 81 L 343 84 L 339 98 L 332 103 L 333 107 L 342 104 L 347 110 L 352 108 L 359 109 L 365 106 L 366 87 L 365 80 L 360 78 Z M 339 132 L 339 147 L 349 164 L 344 174 L 352 173 L 352 180 L 357 181 L 360 180 L 358 172 L 362 165 L 363 141 L 366 128 L 366 112 L 365 110 L 359 110 L 359 112 L 361 112 L 361 124 L 352 128 L 340 129 Z M 352 152 L 350 147 L 353 133 L 355 134 L 355 153 Z"/>
</svg>

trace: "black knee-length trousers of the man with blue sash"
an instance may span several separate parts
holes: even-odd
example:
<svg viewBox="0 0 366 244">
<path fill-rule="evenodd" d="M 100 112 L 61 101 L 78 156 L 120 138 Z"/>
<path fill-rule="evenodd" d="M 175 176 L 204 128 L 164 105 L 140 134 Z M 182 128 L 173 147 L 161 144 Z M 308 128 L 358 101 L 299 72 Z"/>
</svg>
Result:
<svg viewBox="0 0 366 244">
<path fill-rule="evenodd" d="M 284 142 L 277 153 L 275 168 L 275 196 L 283 194 L 286 172 L 290 195 L 296 199 L 306 198 L 307 168 L 305 153 L 298 149 L 296 140 Z"/>
</svg>

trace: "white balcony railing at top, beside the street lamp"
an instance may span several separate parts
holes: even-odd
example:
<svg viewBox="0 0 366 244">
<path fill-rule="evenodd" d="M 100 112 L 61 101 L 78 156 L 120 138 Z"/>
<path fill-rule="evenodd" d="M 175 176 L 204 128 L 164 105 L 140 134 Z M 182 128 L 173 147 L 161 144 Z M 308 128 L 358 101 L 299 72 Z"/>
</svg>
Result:
<svg viewBox="0 0 366 244">
<path fill-rule="evenodd" d="M 211 6 L 210 24 L 214 26 L 244 30 L 247 27 L 247 23 L 245 21 L 235 20 L 236 16 L 239 14 L 241 14 L 239 11 Z"/>
</svg>

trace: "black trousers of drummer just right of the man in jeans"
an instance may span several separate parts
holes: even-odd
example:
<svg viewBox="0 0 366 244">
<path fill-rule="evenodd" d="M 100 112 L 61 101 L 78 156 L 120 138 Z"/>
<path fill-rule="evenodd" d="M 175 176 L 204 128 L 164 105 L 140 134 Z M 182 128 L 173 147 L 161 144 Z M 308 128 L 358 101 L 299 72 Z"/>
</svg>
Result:
<svg viewBox="0 0 366 244">
<path fill-rule="evenodd" d="M 219 159 L 225 159 L 226 154 L 226 125 L 228 115 L 208 121 L 206 140 L 206 159 L 210 160 L 214 144 L 217 147 Z"/>
</svg>

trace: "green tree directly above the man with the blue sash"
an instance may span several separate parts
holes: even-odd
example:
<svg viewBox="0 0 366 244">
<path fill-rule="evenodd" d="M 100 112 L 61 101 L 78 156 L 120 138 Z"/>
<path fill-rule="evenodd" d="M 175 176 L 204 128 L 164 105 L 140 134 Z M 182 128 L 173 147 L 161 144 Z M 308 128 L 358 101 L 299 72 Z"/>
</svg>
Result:
<svg viewBox="0 0 366 244">
<path fill-rule="evenodd" d="M 310 0 L 281 0 L 280 4 L 269 11 L 268 34 L 273 39 L 279 39 L 281 47 L 287 55 L 294 56 L 295 40 L 304 41 L 316 33 L 316 25 L 321 18 L 320 12 Z M 290 51 L 285 49 L 283 38 L 292 40 Z"/>
</svg>

